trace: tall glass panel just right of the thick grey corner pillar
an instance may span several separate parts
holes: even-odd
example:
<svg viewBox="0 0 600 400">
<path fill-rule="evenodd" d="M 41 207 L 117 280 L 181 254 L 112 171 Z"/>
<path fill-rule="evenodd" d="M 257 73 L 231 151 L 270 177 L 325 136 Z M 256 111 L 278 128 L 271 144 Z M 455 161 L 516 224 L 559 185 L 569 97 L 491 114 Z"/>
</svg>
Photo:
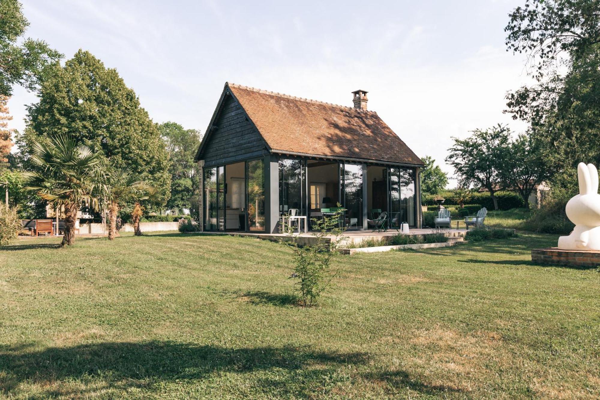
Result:
<svg viewBox="0 0 600 400">
<path fill-rule="evenodd" d="M 279 160 L 279 211 L 287 213 L 298 210 L 298 215 L 306 215 L 306 177 L 304 160 Z"/>
</svg>

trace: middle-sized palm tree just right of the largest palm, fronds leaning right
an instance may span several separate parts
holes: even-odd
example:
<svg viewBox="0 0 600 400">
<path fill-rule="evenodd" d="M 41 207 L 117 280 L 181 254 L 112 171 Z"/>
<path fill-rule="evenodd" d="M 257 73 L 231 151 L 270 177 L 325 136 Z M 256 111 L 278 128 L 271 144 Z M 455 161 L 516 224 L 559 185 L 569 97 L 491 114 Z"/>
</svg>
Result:
<svg viewBox="0 0 600 400">
<path fill-rule="evenodd" d="M 148 198 L 152 188 L 130 168 L 114 168 L 108 172 L 106 178 L 105 199 L 109 209 L 109 239 L 113 240 L 117 234 L 116 217 L 120 205 L 130 201 L 136 201 L 137 205 L 140 200 Z"/>
</svg>

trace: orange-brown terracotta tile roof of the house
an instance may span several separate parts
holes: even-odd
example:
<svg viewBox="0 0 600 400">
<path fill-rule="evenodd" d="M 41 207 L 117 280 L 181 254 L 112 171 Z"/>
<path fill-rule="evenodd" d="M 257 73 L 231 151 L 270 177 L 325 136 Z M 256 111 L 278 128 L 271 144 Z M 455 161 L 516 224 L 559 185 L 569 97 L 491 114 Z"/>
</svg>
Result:
<svg viewBox="0 0 600 400">
<path fill-rule="evenodd" d="M 423 165 L 376 112 L 227 85 L 274 153 Z"/>
</svg>

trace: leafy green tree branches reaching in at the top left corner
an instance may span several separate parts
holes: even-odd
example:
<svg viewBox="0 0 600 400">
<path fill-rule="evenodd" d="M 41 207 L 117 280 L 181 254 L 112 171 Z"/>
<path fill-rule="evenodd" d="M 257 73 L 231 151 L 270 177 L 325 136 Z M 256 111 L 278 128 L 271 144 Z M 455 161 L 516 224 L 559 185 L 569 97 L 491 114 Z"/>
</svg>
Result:
<svg viewBox="0 0 600 400">
<path fill-rule="evenodd" d="M 0 95 L 12 95 L 15 84 L 36 89 L 49 74 L 47 67 L 62 58 L 42 40 L 28 38 L 19 45 L 28 26 L 20 2 L 0 1 Z"/>
</svg>

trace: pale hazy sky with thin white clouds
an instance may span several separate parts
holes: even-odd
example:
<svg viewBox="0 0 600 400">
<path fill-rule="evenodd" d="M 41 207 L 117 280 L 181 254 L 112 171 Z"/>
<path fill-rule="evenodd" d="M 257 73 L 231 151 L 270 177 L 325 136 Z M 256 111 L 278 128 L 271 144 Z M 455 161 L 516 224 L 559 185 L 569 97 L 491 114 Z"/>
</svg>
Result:
<svg viewBox="0 0 600 400">
<path fill-rule="evenodd" d="M 529 82 L 524 57 L 505 46 L 508 13 L 523 0 L 22 2 L 27 37 L 65 59 L 89 50 L 157 123 L 203 133 L 227 81 L 345 106 L 364 89 L 368 109 L 451 178 L 453 136 L 526 129 L 502 112 L 506 92 Z M 25 127 L 36 101 L 15 89 L 11 127 Z"/>
</svg>

